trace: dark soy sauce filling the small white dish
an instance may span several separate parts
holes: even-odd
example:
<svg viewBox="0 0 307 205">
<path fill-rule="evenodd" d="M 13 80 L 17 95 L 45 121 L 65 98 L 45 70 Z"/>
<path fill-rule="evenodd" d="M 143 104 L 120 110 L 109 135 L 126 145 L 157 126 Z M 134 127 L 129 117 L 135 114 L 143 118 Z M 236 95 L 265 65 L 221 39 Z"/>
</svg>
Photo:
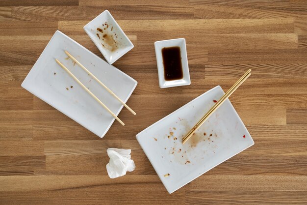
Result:
<svg viewBox="0 0 307 205">
<path fill-rule="evenodd" d="M 180 47 L 162 48 L 164 79 L 174 81 L 183 78 Z"/>
</svg>

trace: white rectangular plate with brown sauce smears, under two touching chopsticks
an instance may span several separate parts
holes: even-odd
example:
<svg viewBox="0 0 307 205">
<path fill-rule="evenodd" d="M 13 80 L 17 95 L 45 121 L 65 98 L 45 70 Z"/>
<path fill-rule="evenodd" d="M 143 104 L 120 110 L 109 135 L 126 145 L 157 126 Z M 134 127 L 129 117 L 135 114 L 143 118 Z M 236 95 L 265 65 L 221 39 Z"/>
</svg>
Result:
<svg viewBox="0 0 307 205">
<path fill-rule="evenodd" d="M 136 135 L 169 193 L 254 145 L 229 100 L 182 144 L 183 136 L 223 94 L 220 86 L 212 88 Z"/>
</svg>

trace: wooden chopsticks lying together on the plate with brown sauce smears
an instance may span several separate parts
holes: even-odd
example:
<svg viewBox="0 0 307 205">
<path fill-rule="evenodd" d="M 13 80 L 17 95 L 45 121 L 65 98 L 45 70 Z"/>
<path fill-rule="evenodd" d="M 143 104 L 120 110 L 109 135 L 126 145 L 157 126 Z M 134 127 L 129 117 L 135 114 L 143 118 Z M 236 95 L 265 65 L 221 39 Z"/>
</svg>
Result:
<svg viewBox="0 0 307 205">
<path fill-rule="evenodd" d="M 224 95 L 219 99 L 217 103 L 205 114 L 204 117 L 184 136 L 182 144 L 184 144 L 250 75 L 251 69 L 249 69 Z"/>
</svg>

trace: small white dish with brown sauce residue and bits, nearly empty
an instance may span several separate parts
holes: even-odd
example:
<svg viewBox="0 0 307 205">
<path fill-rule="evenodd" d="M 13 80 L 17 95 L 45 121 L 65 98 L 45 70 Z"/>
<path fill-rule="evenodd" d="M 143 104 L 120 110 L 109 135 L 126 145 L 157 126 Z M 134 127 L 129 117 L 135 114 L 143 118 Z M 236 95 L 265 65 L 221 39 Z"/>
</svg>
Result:
<svg viewBox="0 0 307 205">
<path fill-rule="evenodd" d="M 134 47 L 108 10 L 103 11 L 83 29 L 110 64 Z"/>
</svg>

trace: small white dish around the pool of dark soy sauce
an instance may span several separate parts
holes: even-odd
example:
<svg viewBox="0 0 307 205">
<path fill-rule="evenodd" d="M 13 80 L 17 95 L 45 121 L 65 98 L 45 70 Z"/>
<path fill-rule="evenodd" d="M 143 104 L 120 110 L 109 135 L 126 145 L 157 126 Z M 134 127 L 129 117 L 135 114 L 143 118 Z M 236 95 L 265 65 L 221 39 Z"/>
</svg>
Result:
<svg viewBox="0 0 307 205">
<path fill-rule="evenodd" d="M 182 67 L 182 78 L 176 80 L 166 80 L 166 73 L 164 69 L 164 62 L 162 56 L 162 49 L 165 48 L 180 48 L 180 58 Z M 186 53 L 186 45 L 184 38 L 162 40 L 154 42 L 155 57 L 158 67 L 158 78 L 160 88 L 170 88 L 176 86 L 187 86 L 191 84 L 188 57 Z M 181 71 L 180 71 L 181 72 Z"/>
</svg>

